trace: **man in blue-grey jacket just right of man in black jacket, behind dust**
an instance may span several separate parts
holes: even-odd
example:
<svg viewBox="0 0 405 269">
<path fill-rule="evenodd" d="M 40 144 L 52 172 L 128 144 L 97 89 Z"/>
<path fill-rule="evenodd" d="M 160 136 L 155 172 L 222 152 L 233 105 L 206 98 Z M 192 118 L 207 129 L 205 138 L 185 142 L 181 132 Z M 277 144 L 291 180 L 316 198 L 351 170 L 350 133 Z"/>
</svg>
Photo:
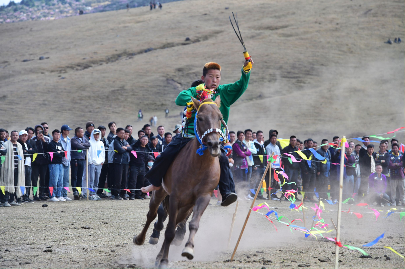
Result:
<svg viewBox="0 0 405 269">
<path fill-rule="evenodd" d="M 321 144 L 328 144 L 328 139 L 322 139 Z M 328 192 L 328 185 L 329 185 L 329 174 L 330 174 L 330 160 L 332 160 L 332 156 L 330 155 L 330 151 L 328 149 L 329 145 L 324 145 L 316 152 L 318 152 L 321 156 L 326 158 L 326 164 L 322 162 L 316 162 L 317 164 L 317 177 L 316 177 L 316 191 L 319 193 L 319 198 L 329 199 L 327 196 Z"/>
</svg>

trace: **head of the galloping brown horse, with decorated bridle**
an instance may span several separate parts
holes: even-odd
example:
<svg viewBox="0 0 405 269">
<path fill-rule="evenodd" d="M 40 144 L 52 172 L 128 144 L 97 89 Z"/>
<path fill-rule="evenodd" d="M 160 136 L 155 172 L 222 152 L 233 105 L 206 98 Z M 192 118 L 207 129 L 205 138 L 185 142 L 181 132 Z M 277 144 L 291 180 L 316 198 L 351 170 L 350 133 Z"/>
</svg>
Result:
<svg viewBox="0 0 405 269">
<path fill-rule="evenodd" d="M 198 101 L 194 98 L 192 98 L 192 100 L 194 102 L 194 107 L 198 111 L 196 128 L 200 137 L 202 137 L 202 142 L 207 145 L 209 153 L 211 153 L 213 157 L 220 156 L 220 146 L 222 143 L 220 140 L 221 135 L 215 130 L 221 130 L 222 113 L 219 109 L 221 98 L 218 95 L 217 98 L 215 98 L 215 101 L 212 101 L 211 99 Z"/>
</svg>

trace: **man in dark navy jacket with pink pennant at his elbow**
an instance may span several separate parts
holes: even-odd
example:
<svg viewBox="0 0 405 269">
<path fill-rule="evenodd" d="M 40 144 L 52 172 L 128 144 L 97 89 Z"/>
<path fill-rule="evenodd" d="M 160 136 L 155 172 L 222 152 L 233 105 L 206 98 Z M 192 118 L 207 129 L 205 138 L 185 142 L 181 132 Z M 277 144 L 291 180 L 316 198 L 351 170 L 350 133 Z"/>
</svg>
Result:
<svg viewBox="0 0 405 269">
<path fill-rule="evenodd" d="M 128 200 L 128 198 L 125 198 L 126 190 L 124 189 L 126 188 L 128 178 L 128 164 L 130 161 L 129 153 L 132 151 L 132 147 L 124 139 L 124 136 L 125 129 L 118 128 L 117 137 L 113 139 L 113 150 L 115 151 L 113 157 L 115 182 L 114 188 L 111 191 L 111 195 L 114 195 L 114 198 L 111 196 L 111 199 L 115 200 Z"/>
</svg>

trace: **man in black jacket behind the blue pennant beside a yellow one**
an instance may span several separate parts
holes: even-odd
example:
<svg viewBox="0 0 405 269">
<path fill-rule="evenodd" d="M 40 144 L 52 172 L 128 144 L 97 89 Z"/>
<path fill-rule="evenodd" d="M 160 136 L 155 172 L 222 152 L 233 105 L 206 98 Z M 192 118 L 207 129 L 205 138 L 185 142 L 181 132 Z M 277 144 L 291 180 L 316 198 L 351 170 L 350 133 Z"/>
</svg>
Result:
<svg viewBox="0 0 405 269">
<path fill-rule="evenodd" d="M 311 151 L 308 150 L 312 147 L 313 140 L 309 138 L 307 139 L 307 150 L 303 150 L 302 152 L 305 154 L 305 156 L 307 156 L 308 159 L 312 156 L 312 160 L 315 162 L 302 160 L 300 163 L 301 176 L 303 177 L 303 191 L 305 191 L 305 202 L 317 202 L 316 200 L 313 200 L 313 189 L 315 188 L 317 172 L 316 159 Z"/>
</svg>

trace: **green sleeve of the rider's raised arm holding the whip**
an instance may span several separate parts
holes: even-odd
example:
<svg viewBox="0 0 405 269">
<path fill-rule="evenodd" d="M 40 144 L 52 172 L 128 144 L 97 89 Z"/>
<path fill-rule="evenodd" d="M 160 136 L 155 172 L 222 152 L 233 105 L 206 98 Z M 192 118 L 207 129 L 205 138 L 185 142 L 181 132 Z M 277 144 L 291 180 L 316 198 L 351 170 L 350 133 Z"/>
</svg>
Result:
<svg viewBox="0 0 405 269">
<path fill-rule="evenodd" d="M 243 92 L 247 89 L 247 84 L 249 84 L 250 72 L 247 74 L 243 71 L 242 68 L 241 79 L 233 84 L 222 85 L 220 90 L 221 102 L 224 103 L 227 107 L 230 107 L 235 103 L 239 97 L 243 95 Z"/>
</svg>

